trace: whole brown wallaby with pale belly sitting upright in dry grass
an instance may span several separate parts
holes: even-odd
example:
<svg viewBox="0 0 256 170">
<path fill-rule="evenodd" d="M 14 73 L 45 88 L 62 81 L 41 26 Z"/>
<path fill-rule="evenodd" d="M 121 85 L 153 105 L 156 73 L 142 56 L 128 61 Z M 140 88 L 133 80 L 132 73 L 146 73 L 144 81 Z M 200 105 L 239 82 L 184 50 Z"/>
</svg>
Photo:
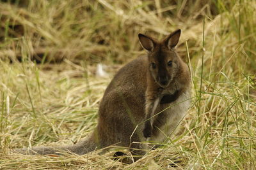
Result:
<svg viewBox="0 0 256 170">
<path fill-rule="evenodd" d="M 189 69 L 175 51 L 180 29 L 163 41 L 138 36 L 148 53 L 122 67 L 109 83 L 100 102 L 99 123 L 90 137 L 72 146 L 38 146 L 17 152 L 45 155 L 65 150 L 82 155 L 117 145 L 130 148 L 136 161 L 145 154 L 141 142 L 161 143 L 170 136 L 186 114 L 190 97 Z"/>
</svg>

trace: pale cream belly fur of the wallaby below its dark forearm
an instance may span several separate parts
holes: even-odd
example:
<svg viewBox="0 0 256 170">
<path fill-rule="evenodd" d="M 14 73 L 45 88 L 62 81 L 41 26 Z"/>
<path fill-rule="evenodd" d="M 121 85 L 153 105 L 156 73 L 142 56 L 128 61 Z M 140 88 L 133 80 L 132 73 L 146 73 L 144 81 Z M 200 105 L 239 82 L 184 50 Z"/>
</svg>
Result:
<svg viewBox="0 0 256 170">
<path fill-rule="evenodd" d="M 156 113 L 164 111 L 154 118 L 154 124 L 157 127 L 154 127 L 154 133 L 149 141 L 161 143 L 166 137 L 170 137 L 173 134 L 173 131 L 177 129 L 180 121 L 186 115 L 189 108 L 189 98 L 190 92 L 186 90 L 172 103 L 160 104 L 157 107 Z"/>
</svg>

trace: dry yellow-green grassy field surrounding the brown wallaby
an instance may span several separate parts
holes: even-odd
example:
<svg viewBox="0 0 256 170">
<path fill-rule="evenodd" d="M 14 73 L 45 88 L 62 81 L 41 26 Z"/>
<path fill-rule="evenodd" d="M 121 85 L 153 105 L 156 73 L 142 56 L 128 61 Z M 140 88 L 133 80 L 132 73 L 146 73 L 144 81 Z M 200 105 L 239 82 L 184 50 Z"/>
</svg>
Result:
<svg viewBox="0 0 256 170">
<path fill-rule="evenodd" d="M 0 1 L 0 169 L 256 169 L 255 16 L 254 0 Z M 86 137 L 115 72 L 145 53 L 138 33 L 178 28 L 193 102 L 170 142 L 130 165 L 12 152 Z"/>
</svg>

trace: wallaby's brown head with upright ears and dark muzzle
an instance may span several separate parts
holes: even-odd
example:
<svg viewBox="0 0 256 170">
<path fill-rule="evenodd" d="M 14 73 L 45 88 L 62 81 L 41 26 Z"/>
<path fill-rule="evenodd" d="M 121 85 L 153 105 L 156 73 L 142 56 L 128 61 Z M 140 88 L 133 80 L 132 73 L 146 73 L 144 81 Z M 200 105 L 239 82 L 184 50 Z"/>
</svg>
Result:
<svg viewBox="0 0 256 170">
<path fill-rule="evenodd" d="M 139 34 L 141 45 L 148 51 L 150 74 L 160 87 L 168 87 L 181 67 L 181 60 L 175 51 L 179 38 L 180 29 L 172 32 L 162 41 Z"/>
</svg>

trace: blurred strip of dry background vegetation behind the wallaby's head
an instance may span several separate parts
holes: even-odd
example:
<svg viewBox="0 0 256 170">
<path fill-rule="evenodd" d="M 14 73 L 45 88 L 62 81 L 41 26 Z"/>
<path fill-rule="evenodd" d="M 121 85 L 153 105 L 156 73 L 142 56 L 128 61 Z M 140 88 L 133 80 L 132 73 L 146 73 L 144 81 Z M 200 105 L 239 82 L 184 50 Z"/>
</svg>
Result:
<svg viewBox="0 0 256 170">
<path fill-rule="evenodd" d="M 182 29 L 181 55 L 188 39 L 194 57 L 201 53 L 205 15 L 205 48 L 214 60 L 243 48 L 230 64 L 247 60 L 255 71 L 255 2 L 250 0 L 6 0 L 0 11 L 0 57 L 5 60 L 124 63 L 140 53 L 139 32 L 162 38 L 177 28 Z"/>
</svg>

